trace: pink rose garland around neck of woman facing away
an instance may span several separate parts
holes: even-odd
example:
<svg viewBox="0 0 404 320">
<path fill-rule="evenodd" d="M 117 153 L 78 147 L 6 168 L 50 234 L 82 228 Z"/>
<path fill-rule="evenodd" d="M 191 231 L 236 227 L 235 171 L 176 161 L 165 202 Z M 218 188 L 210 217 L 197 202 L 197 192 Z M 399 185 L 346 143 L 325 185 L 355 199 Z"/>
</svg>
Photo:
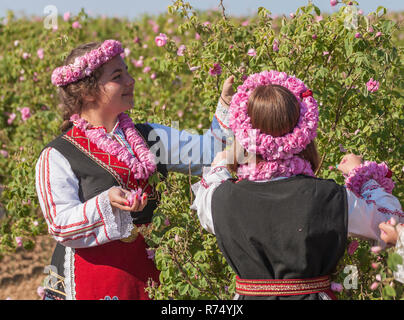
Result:
<svg viewBox="0 0 404 320">
<path fill-rule="evenodd" d="M 272 178 L 291 177 L 298 174 L 314 177 L 310 162 L 299 156 L 273 161 L 264 160 L 257 164 L 244 164 L 240 165 L 237 170 L 239 179 L 251 181 L 271 180 Z"/>
</svg>

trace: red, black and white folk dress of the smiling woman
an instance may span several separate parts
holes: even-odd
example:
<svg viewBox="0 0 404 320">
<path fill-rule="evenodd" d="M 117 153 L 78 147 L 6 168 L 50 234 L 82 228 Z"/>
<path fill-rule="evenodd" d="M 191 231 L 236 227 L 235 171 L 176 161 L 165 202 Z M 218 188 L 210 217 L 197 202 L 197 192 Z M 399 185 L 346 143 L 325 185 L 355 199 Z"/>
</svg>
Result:
<svg viewBox="0 0 404 320">
<path fill-rule="evenodd" d="M 135 128 L 149 148 L 161 142 L 158 172 L 190 170 L 200 175 L 203 164 L 223 149 L 228 133 L 221 123 L 226 116 L 219 103 L 210 130 L 201 136 L 159 124 Z M 136 156 L 119 121 L 107 135 Z M 147 206 L 142 212 L 112 207 L 108 191 L 114 186 L 141 187 L 148 194 Z M 158 282 L 159 271 L 138 232 L 151 222 L 158 205 L 156 190 L 147 180 L 136 180 L 125 163 L 99 149 L 73 125 L 42 151 L 36 164 L 36 190 L 49 233 L 57 241 L 48 267 L 46 299 L 148 299 L 145 288 L 149 281 Z"/>
</svg>

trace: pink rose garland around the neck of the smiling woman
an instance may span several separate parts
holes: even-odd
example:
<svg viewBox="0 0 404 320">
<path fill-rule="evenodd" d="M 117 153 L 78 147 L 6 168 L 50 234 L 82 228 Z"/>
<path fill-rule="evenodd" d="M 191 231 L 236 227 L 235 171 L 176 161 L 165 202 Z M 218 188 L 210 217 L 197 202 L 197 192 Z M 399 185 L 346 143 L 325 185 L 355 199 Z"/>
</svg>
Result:
<svg viewBox="0 0 404 320">
<path fill-rule="evenodd" d="M 105 129 L 94 128 L 86 120 L 80 118 L 78 114 L 72 115 L 70 120 L 98 148 L 125 163 L 135 179 L 146 180 L 156 171 L 156 160 L 153 153 L 150 152 L 143 138 L 139 136 L 132 119 L 127 114 L 121 113 L 118 116 L 119 126 L 125 133 L 126 140 L 137 158 L 125 146 L 111 140 Z"/>
</svg>

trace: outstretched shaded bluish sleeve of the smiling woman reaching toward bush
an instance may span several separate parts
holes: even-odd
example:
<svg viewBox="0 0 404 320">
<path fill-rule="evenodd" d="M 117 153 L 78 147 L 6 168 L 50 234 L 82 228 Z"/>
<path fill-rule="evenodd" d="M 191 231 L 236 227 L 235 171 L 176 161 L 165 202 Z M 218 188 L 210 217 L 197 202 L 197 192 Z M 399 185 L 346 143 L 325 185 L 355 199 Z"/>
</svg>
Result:
<svg viewBox="0 0 404 320">
<path fill-rule="evenodd" d="M 150 137 L 155 143 L 150 149 L 158 162 L 166 164 L 167 170 L 192 175 L 202 175 L 202 167 L 209 166 L 216 153 L 222 151 L 226 141 L 231 140 L 232 131 L 226 129 L 228 116 L 219 103 L 209 129 L 199 135 L 196 130 L 178 130 L 161 124 L 150 123 L 153 127 Z M 219 122 L 220 119 L 220 122 Z M 161 145 L 160 145 L 161 144 Z"/>
</svg>

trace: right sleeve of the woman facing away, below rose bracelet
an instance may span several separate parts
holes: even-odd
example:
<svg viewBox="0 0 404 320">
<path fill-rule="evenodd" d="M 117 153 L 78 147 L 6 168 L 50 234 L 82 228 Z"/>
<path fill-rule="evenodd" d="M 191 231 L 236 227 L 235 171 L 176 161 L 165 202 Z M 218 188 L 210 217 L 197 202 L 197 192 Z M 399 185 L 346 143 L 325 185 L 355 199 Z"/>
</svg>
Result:
<svg viewBox="0 0 404 320">
<path fill-rule="evenodd" d="M 380 239 L 379 224 L 394 217 L 403 222 L 404 213 L 400 202 L 387 193 L 375 180 L 369 180 L 361 187 L 361 195 L 347 189 L 348 197 L 348 232 L 352 236 L 367 239 Z"/>
</svg>

